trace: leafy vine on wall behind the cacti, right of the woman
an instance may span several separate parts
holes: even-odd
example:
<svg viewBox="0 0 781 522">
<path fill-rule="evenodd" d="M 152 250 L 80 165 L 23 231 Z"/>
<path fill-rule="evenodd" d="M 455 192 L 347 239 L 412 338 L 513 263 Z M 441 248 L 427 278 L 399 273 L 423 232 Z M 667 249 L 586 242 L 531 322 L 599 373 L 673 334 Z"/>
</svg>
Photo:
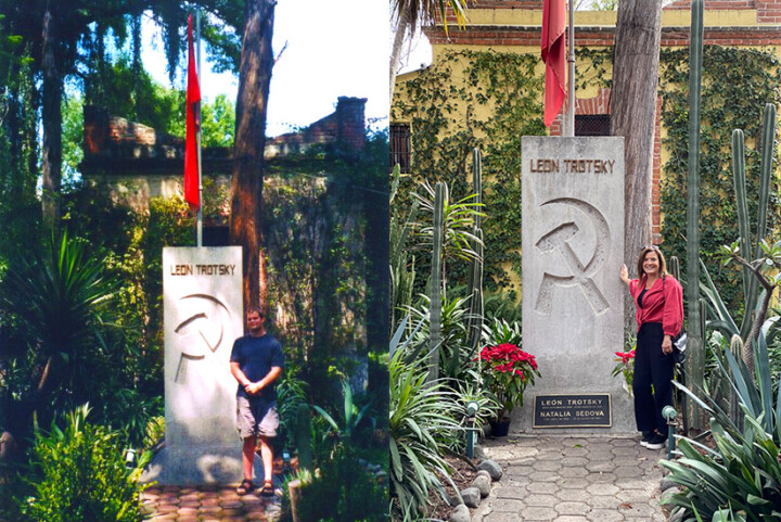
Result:
<svg viewBox="0 0 781 522">
<path fill-rule="evenodd" d="M 662 50 L 660 55 L 662 123 L 667 129 L 663 147 L 669 151 L 661 186 L 664 215 L 662 235 L 665 251 L 681 258 L 686 267 L 687 190 L 689 162 L 689 50 Z M 732 187 L 732 130 L 746 136 L 746 190 L 758 194 L 759 137 L 761 112 L 766 103 L 781 104 L 781 61 L 769 51 L 707 46 L 703 53 L 702 124 L 700 150 L 700 256 L 714 276 L 722 298 L 739 310 L 739 272 L 721 271 L 714 258 L 719 246 L 738 237 L 735 195 Z M 754 141 L 753 147 L 751 141 Z M 777 151 L 778 152 L 778 151 Z M 770 189 L 769 235 L 781 225 L 778 195 L 778 155 Z M 756 201 L 748 202 L 748 214 L 756 233 Z"/>
</svg>

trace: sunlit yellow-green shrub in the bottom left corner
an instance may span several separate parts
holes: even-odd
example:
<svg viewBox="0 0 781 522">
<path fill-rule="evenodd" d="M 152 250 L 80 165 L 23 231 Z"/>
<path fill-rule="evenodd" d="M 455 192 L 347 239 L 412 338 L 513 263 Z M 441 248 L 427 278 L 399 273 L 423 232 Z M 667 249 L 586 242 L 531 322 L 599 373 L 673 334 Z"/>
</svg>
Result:
<svg viewBox="0 0 781 522">
<path fill-rule="evenodd" d="M 30 521 L 137 522 L 143 519 L 138 478 L 149 459 L 126 467 L 118 433 L 87 422 L 84 405 L 67 416 L 65 431 L 36 434 L 33 473 L 26 480 L 34 496 L 21 511 Z"/>
</svg>

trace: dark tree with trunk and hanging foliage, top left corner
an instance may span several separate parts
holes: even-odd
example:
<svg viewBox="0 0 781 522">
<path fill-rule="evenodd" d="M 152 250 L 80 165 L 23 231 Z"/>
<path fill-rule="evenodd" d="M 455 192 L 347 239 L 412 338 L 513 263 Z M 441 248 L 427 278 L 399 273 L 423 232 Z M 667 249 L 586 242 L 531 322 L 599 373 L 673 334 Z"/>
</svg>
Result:
<svg viewBox="0 0 781 522">
<path fill-rule="evenodd" d="M 110 61 L 106 58 L 106 41 L 114 38 L 115 46 L 121 47 L 132 33 L 132 80 L 136 86 L 140 76 L 140 16 L 152 10 L 163 26 L 168 71 L 174 78 L 179 53 L 184 46 L 180 29 L 187 23 L 187 9 L 202 8 L 216 22 L 206 24 L 203 31 L 207 49 L 217 53 L 220 67 L 234 69 L 238 65 L 239 41 L 235 27 L 243 26 L 244 4 L 242 1 L 203 0 L 179 2 L 170 0 L 0 0 L 0 16 L 4 16 L 4 26 L 9 34 L 21 37 L 26 46 L 12 50 L 14 60 L 23 53 L 31 58 L 30 67 L 24 72 L 29 75 L 34 86 L 40 85 L 39 97 L 34 97 L 27 111 L 40 109 L 42 147 L 42 216 L 51 227 L 60 227 L 60 196 L 62 188 L 63 162 L 63 114 L 62 100 L 66 79 L 76 77 L 84 71 L 97 73 L 90 75 L 91 82 L 85 86 L 86 100 L 100 100 L 107 97 L 105 85 L 101 81 Z M 205 20 L 209 20 L 206 16 Z M 3 46 L 8 47 L 8 46 Z M 5 53 L 9 49 L 3 49 Z M 5 60 L 3 60 L 5 61 Z M 21 72 L 22 73 L 22 72 Z M 37 87 L 34 87 L 37 90 Z M 136 100 L 139 111 L 144 109 Z M 36 162 L 37 163 L 37 162 Z"/>
</svg>

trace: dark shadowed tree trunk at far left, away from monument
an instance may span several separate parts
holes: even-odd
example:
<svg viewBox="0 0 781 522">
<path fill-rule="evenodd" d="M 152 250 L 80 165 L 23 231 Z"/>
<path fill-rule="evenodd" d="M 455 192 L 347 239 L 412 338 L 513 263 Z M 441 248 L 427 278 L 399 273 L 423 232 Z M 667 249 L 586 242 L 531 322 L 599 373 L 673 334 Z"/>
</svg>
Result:
<svg viewBox="0 0 781 522">
<path fill-rule="evenodd" d="M 42 174 L 43 222 L 51 227 L 55 234 L 60 229 L 60 191 L 62 187 L 62 112 L 63 92 L 62 78 L 56 66 L 54 46 L 56 46 L 56 1 L 49 0 L 43 13 L 43 150 Z"/>
</svg>

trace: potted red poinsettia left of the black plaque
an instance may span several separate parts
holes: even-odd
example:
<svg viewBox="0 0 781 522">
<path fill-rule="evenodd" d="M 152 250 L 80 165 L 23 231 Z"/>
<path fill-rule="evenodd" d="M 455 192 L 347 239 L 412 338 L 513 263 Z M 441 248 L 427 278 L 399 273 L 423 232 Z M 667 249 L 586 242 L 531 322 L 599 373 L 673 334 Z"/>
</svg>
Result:
<svg viewBox="0 0 781 522">
<path fill-rule="evenodd" d="M 515 406 L 523 406 L 526 386 L 540 377 L 537 361 L 534 355 L 510 343 L 484 347 L 476 360 L 486 389 L 500 405 L 490 421 L 491 434 L 504 436 L 510 429 L 510 413 Z"/>
</svg>

